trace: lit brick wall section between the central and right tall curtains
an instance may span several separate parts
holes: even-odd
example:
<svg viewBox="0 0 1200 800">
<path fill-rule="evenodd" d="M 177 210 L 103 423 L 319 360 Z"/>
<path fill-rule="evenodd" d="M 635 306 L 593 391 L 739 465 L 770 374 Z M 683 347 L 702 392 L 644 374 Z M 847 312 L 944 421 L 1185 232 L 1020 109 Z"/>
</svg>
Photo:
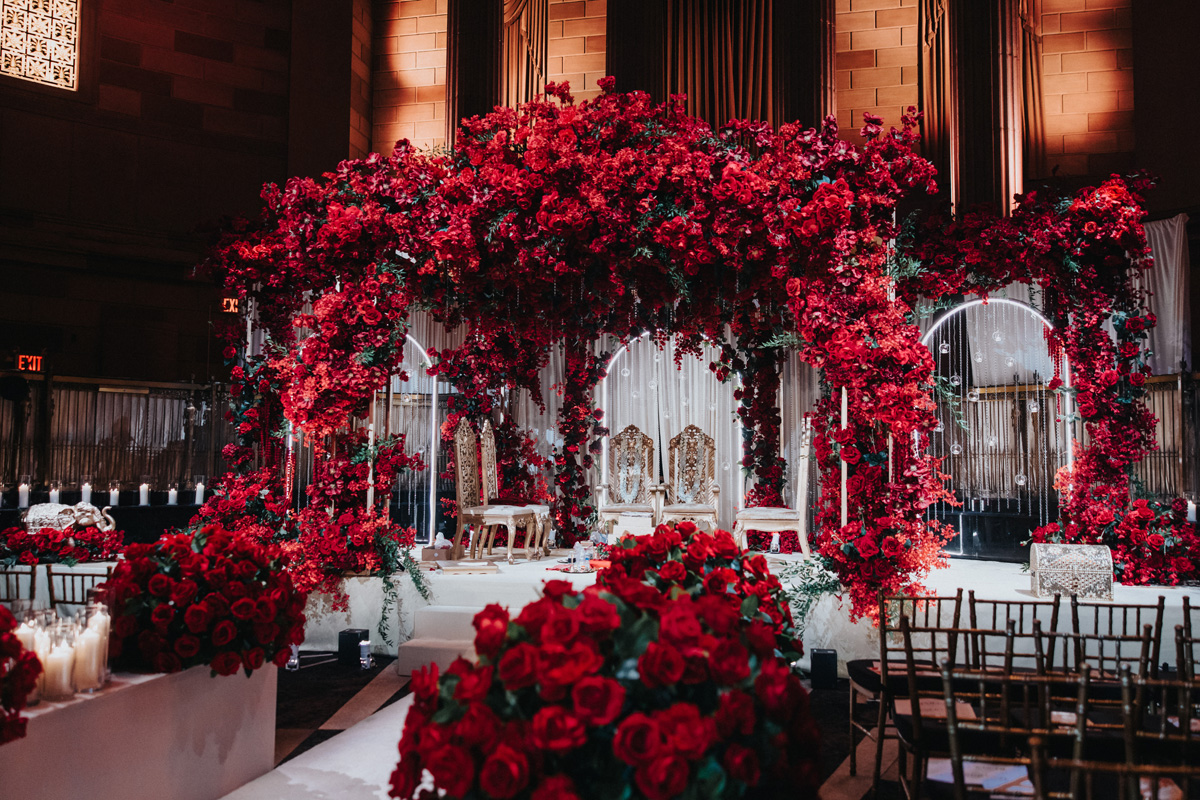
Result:
<svg viewBox="0 0 1200 800">
<path fill-rule="evenodd" d="M 838 125 L 859 142 L 863 113 L 900 125 L 917 106 L 917 0 L 838 0 Z"/>
</svg>

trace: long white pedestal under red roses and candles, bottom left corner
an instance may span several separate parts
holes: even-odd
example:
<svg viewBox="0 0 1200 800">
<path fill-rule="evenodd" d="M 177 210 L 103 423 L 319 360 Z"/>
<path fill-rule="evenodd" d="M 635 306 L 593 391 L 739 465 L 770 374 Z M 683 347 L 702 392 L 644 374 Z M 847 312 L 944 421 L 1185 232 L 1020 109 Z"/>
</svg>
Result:
<svg viewBox="0 0 1200 800">
<path fill-rule="evenodd" d="M 0 747 L 5 798 L 212 800 L 270 771 L 274 666 L 209 676 L 119 673 L 96 694 L 29 709 L 28 735 Z"/>
</svg>

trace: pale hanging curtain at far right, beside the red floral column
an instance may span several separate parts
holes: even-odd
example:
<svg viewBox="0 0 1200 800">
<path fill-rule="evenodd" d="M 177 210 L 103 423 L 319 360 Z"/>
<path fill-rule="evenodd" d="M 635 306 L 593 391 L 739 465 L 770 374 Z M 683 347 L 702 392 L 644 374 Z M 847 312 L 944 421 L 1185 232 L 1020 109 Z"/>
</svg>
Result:
<svg viewBox="0 0 1200 800">
<path fill-rule="evenodd" d="M 1150 289 L 1150 309 L 1158 325 L 1150 331 L 1150 367 L 1156 375 L 1180 371 L 1180 362 L 1192 366 L 1192 302 L 1188 296 L 1188 215 L 1146 223 L 1146 239 L 1154 254 L 1154 266 L 1142 276 Z"/>
</svg>

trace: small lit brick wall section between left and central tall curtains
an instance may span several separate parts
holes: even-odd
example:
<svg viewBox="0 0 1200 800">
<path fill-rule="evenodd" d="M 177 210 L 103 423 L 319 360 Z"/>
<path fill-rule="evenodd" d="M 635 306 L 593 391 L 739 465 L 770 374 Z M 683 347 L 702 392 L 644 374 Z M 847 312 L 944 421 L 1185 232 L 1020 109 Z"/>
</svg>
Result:
<svg viewBox="0 0 1200 800">
<path fill-rule="evenodd" d="M 570 82 L 575 102 L 600 94 L 596 80 L 606 74 L 607 5 L 607 0 L 550 0 L 547 79 Z"/>
</svg>

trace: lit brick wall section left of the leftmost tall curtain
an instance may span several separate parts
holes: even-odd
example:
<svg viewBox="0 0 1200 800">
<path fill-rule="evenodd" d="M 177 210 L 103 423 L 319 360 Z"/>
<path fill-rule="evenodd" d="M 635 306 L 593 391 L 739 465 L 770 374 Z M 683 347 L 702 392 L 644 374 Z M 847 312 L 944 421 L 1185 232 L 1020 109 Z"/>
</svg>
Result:
<svg viewBox="0 0 1200 800">
<path fill-rule="evenodd" d="M 377 1 L 374 14 L 371 149 L 391 152 L 398 139 L 444 144 L 446 0 Z"/>
</svg>

